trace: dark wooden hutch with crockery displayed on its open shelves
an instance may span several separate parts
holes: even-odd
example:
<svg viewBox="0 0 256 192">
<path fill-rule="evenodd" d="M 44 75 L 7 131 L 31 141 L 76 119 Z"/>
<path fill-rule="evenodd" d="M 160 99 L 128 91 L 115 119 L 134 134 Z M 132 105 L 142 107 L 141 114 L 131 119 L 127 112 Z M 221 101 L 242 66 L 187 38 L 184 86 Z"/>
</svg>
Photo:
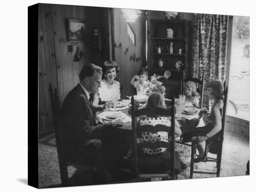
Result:
<svg viewBox="0 0 256 192">
<path fill-rule="evenodd" d="M 182 81 L 185 69 L 189 65 L 189 27 L 190 21 L 185 19 L 151 19 L 151 43 L 149 52 L 151 64 L 150 75 L 164 75 L 170 71 L 168 79 L 159 81 L 166 87 L 166 98 L 173 94 L 179 97 L 182 93 Z M 179 68 L 178 64 L 182 63 Z"/>
</svg>

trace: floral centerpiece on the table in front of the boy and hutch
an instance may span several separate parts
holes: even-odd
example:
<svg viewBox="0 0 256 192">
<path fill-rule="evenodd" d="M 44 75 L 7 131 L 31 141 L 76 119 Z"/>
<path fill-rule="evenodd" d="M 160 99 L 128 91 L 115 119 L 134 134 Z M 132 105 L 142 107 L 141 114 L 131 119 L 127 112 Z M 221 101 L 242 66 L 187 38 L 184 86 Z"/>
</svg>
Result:
<svg viewBox="0 0 256 192">
<path fill-rule="evenodd" d="M 146 95 L 150 96 L 152 93 L 160 93 L 163 96 L 165 95 L 165 87 L 162 86 L 162 82 L 157 81 L 157 77 L 154 75 L 151 77 L 150 83 L 147 84 L 148 89 Z"/>
</svg>

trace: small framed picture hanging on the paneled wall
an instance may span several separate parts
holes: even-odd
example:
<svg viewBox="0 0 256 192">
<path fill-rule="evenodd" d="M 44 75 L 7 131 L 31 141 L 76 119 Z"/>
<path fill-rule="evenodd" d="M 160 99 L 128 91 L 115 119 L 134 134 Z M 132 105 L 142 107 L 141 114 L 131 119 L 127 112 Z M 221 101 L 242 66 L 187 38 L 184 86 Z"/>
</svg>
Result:
<svg viewBox="0 0 256 192">
<path fill-rule="evenodd" d="M 85 41 L 85 31 L 84 20 L 68 19 L 68 41 Z"/>
</svg>

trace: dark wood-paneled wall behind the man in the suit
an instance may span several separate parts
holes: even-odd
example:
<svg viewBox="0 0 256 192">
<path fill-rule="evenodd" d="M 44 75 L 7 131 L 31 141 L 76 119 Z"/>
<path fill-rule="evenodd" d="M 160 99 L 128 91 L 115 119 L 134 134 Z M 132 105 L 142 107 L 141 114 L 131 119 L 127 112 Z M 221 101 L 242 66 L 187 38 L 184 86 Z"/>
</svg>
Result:
<svg viewBox="0 0 256 192">
<path fill-rule="evenodd" d="M 67 93 L 79 83 L 79 72 L 84 64 L 101 65 L 102 61 L 109 59 L 108 41 L 104 42 L 103 50 L 93 49 L 95 27 L 104 28 L 103 31 L 107 31 L 104 38 L 108 37 L 108 22 L 100 22 L 106 14 L 101 14 L 99 9 L 100 7 L 39 4 L 39 132 L 53 128 L 49 83 L 53 89 L 58 90 L 62 103 Z M 105 9 L 108 13 L 108 9 Z M 68 41 L 68 19 L 86 22 L 85 42 Z M 67 51 L 68 45 L 73 46 L 73 52 Z M 73 61 L 77 46 L 85 53 L 81 61 Z"/>
</svg>

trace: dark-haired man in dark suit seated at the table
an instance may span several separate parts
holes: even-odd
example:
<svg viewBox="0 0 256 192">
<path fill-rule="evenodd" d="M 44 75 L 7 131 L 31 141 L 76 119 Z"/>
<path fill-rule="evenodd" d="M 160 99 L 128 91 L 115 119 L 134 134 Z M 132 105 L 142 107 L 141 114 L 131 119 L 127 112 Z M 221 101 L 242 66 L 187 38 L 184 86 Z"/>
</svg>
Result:
<svg viewBox="0 0 256 192">
<path fill-rule="evenodd" d="M 102 148 L 107 148 L 104 144 L 108 145 L 111 139 L 107 136 L 109 131 L 123 124 L 121 119 L 96 124 L 89 95 L 98 92 L 101 76 L 101 67 L 85 64 L 79 75 L 80 83 L 67 94 L 61 107 L 67 158 L 77 164 L 88 163 L 88 160 L 97 163 L 95 158 L 99 156 L 94 154 L 102 155 Z"/>
</svg>

